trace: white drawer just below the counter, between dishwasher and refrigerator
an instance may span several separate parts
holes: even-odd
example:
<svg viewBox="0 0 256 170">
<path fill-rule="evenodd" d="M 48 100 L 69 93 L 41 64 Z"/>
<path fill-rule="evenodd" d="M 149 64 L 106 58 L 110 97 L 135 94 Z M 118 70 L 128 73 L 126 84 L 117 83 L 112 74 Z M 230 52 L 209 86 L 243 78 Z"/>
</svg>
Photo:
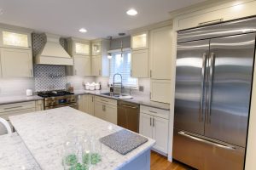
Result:
<svg viewBox="0 0 256 170">
<path fill-rule="evenodd" d="M 169 119 L 169 111 L 165 111 L 165 110 L 161 110 L 161 109 L 157 109 L 154 107 L 148 107 L 145 105 L 141 105 L 141 113 L 146 113 L 148 115 L 152 115 L 152 116 L 158 116 L 158 117 L 162 117 L 165 119 Z"/>
</svg>

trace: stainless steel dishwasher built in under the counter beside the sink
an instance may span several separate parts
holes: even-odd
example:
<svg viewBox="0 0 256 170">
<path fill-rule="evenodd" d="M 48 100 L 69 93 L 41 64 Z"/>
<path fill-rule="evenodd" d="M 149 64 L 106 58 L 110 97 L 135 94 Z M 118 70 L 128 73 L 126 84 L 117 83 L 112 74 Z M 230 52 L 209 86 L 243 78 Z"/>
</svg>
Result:
<svg viewBox="0 0 256 170">
<path fill-rule="evenodd" d="M 140 105 L 118 101 L 118 125 L 139 132 Z"/>
</svg>

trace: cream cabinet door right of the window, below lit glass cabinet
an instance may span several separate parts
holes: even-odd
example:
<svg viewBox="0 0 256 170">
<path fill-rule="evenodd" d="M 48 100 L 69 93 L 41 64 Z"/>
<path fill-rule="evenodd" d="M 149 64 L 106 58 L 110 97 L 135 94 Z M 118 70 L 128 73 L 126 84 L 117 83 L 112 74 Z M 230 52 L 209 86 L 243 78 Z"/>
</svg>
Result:
<svg viewBox="0 0 256 170">
<path fill-rule="evenodd" d="M 131 77 L 148 77 L 148 49 L 132 51 Z"/>
</svg>

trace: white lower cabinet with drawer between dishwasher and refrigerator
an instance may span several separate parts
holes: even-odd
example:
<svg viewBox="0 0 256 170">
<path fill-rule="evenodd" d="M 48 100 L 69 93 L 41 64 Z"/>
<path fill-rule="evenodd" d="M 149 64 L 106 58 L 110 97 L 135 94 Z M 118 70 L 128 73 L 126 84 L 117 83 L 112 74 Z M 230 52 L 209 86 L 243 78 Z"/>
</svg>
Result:
<svg viewBox="0 0 256 170">
<path fill-rule="evenodd" d="M 169 111 L 141 106 L 140 111 L 140 133 L 154 139 L 153 149 L 160 154 L 168 153 L 169 136 Z"/>
</svg>

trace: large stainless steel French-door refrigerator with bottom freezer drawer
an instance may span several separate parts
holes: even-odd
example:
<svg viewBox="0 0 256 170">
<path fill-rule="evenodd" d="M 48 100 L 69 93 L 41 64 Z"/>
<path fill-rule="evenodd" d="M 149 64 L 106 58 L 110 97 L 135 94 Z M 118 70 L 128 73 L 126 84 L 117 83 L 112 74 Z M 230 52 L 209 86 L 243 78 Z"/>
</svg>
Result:
<svg viewBox="0 0 256 170">
<path fill-rule="evenodd" d="M 177 34 L 173 158 L 206 170 L 244 167 L 256 19 Z"/>
</svg>

